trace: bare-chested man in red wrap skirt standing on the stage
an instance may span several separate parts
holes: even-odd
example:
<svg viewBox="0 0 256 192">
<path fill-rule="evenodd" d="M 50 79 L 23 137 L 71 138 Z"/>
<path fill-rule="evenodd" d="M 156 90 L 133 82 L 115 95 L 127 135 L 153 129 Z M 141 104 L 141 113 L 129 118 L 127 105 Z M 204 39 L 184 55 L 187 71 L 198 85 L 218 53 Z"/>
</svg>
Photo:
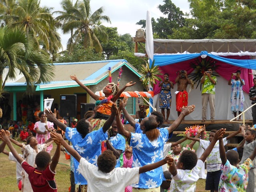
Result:
<svg viewBox="0 0 256 192">
<path fill-rule="evenodd" d="M 188 106 L 188 92 L 187 86 L 191 84 L 190 79 L 188 78 L 188 74 L 185 70 L 179 70 L 177 72 L 177 77 L 175 79 L 177 84 L 176 94 L 176 111 L 178 112 L 178 116 L 180 115 L 181 109 L 183 106 Z"/>
</svg>

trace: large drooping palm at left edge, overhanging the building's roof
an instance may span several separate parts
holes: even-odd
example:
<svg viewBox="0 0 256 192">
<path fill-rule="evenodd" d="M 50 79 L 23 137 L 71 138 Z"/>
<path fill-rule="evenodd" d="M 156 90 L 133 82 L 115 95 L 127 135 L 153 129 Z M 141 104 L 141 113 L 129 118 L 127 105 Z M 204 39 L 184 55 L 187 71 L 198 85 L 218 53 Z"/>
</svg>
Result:
<svg viewBox="0 0 256 192">
<path fill-rule="evenodd" d="M 5 78 L 4 71 L 7 73 Z M 26 78 L 27 93 L 31 94 L 34 84 L 50 82 L 54 65 L 36 50 L 33 38 L 26 32 L 18 28 L 0 28 L 0 95 L 6 80 L 15 79 L 19 72 Z"/>
</svg>

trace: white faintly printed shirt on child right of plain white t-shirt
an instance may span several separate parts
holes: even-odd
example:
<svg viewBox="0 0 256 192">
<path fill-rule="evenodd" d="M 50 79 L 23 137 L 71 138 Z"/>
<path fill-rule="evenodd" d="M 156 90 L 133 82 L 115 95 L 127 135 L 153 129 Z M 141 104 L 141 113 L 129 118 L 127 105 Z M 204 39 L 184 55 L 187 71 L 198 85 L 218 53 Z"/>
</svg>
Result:
<svg viewBox="0 0 256 192">
<path fill-rule="evenodd" d="M 202 168 L 202 160 L 198 160 L 192 170 L 177 169 L 176 176 L 172 176 L 169 192 L 194 192 L 196 191 L 196 182 L 199 179 L 199 172 Z"/>
</svg>

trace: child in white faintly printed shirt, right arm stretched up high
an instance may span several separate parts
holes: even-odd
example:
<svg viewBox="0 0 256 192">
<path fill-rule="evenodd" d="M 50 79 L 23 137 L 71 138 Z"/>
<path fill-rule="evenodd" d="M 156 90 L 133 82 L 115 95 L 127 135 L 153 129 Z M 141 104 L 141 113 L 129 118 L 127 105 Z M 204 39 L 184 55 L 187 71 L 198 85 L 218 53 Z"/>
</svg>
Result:
<svg viewBox="0 0 256 192">
<path fill-rule="evenodd" d="M 225 130 L 221 128 L 214 134 L 212 142 L 199 159 L 195 152 L 184 150 L 180 155 L 177 167 L 175 165 L 174 158 L 171 158 L 171 160 L 168 161 L 170 166 L 169 171 L 172 174 L 170 191 L 196 191 L 196 182 L 199 179 L 198 173 L 202 168 L 202 164 L 204 164 L 204 161 L 214 148 L 215 143 L 223 136 L 224 133 Z"/>
</svg>

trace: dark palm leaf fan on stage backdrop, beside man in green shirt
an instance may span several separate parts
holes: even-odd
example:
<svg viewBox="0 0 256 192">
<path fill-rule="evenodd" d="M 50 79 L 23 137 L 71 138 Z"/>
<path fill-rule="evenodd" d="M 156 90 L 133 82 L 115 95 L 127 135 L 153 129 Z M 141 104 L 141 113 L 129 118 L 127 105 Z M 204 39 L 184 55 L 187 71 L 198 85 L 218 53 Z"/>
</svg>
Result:
<svg viewBox="0 0 256 192">
<path fill-rule="evenodd" d="M 197 83 L 196 88 L 198 88 L 200 84 L 200 90 L 202 88 L 202 84 L 200 82 L 204 72 L 207 71 L 207 68 L 211 67 L 212 71 L 215 70 L 218 65 L 216 65 L 216 61 L 213 58 L 206 57 L 206 58 L 195 58 L 193 62 L 190 63 L 191 67 L 194 69 L 194 73 L 188 75 L 194 82 Z M 212 72 L 212 75 L 219 76 L 218 73 Z"/>
</svg>

